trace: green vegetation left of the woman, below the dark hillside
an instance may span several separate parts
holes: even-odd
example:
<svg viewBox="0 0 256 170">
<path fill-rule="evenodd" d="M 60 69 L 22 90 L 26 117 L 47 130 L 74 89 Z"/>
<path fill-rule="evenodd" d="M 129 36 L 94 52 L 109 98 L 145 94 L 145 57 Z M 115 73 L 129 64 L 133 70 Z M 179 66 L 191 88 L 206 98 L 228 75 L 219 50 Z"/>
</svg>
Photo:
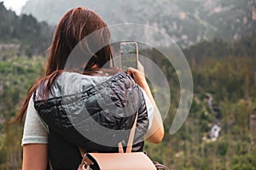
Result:
<svg viewBox="0 0 256 170">
<path fill-rule="evenodd" d="M 20 169 L 23 125 L 9 122 L 32 82 L 42 75 L 44 61 L 38 56 L 0 60 L 0 169 Z"/>
</svg>

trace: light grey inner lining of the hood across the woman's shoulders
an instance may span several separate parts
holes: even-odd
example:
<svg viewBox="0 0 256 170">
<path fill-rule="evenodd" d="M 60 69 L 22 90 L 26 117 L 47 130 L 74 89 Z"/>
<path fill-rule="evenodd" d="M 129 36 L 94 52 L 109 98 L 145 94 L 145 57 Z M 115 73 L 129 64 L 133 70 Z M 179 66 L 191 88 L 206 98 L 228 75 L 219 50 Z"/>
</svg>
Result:
<svg viewBox="0 0 256 170">
<path fill-rule="evenodd" d="M 96 74 L 90 75 L 63 71 L 55 77 L 54 82 L 51 84 L 49 83 L 51 81 L 50 78 L 44 80 L 45 81 L 42 81 L 36 90 L 37 98 L 45 98 L 44 94 L 47 94 L 48 99 L 71 94 L 79 94 L 90 88 L 99 88 L 101 86 L 106 86 L 107 84 L 111 86 L 113 83 L 118 83 L 119 85 L 125 84 L 123 87 L 135 83 L 124 71 L 118 71 L 115 72 L 115 74 L 98 71 Z"/>
</svg>

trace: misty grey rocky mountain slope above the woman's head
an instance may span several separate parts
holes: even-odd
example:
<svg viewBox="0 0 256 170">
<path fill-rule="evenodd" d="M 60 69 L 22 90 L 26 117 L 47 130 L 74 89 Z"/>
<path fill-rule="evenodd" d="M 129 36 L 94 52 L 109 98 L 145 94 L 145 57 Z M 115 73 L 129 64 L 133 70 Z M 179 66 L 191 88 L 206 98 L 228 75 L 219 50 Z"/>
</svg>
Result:
<svg viewBox="0 0 256 170">
<path fill-rule="evenodd" d="M 28 0 L 23 14 L 56 25 L 69 8 L 85 6 L 108 25 L 131 22 L 154 26 L 182 47 L 201 40 L 237 39 L 256 28 L 253 0 Z"/>
</svg>

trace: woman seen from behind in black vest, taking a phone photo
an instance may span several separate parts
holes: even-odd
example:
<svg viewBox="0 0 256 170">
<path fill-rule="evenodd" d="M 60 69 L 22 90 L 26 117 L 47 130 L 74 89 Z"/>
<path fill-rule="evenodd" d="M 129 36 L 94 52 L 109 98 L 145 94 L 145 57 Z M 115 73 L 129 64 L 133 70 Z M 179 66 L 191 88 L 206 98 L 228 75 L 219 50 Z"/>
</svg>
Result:
<svg viewBox="0 0 256 170">
<path fill-rule="evenodd" d="M 95 31 L 97 33 L 94 38 L 90 39 L 90 42 L 88 40 L 82 41 L 84 37 Z M 75 169 L 81 161 L 79 147 L 87 151 L 117 151 L 117 147 L 107 144 L 109 141 L 104 145 L 102 144 L 102 139 L 96 141 L 93 139 L 93 136 L 86 136 L 86 134 L 84 136 L 81 135 L 81 132 L 77 132 L 78 127 L 73 126 L 82 124 L 82 130 L 85 129 L 86 131 L 90 129 L 90 131 L 99 133 L 94 128 L 84 127 L 88 123 L 90 124 L 91 120 L 90 122 L 87 121 L 87 123 L 70 122 L 70 117 L 77 118 L 73 115 L 80 116 L 81 113 L 84 114 L 83 111 L 79 111 L 80 103 L 75 103 L 77 101 L 84 102 L 83 105 L 85 105 L 87 112 L 90 116 L 93 116 L 92 121 L 118 130 L 130 129 L 138 111 L 137 132 L 135 136 L 137 143 L 133 145 L 133 151 L 143 149 L 142 139 L 147 139 L 153 143 L 159 143 L 162 140 L 164 135 L 162 120 L 159 112 L 152 109 L 155 106 L 154 99 L 148 88 L 148 83 L 143 76 L 143 72 L 129 68 L 128 73 L 132 75 L 133 81 L 125 72 L 119 73 L 119 71 L 111 68 L 113 66 L 111 63 L 113 56 L 109 45 L 97 50 L 95 54 L 92 53 L 93 50 L 91 50 L 90 44 L 95 45 L 101 42 L 108 42 L 109 37 L 110 33 L 107 25 L 90 9 L 73 8 L 62 17 L 56 27 L 55 36 L 49 48 L 49 60 L 45 77 L 39 79 L 32 85 L 20 109 L 20 114 L 16 118 L 16 121 L 21 121 L 26 114 L 22 139 L 23 170 L 45 170 L 49 165 L 49 161 L 54 169 Z M 92 56 L 88 62 L 80 63 L 81 66 L 85 65 L 83 74 L 76 73 L 70 68 L 69 71 L 64 71 L 67 66 L 68 56 L 72 53 L 73 48 L 81 41 L 82 43 L 80 45 L 84 49 L 82 50 L 84 54 L 90 54 Z M 107 69 L 102 69 L 103 66 Z M 112 75 L 113 78 L 109 78 L 109 75 Z M 76 82 L 77 80 L 78 82 Z M 65 100 L 66 96 L 81 94 L 81 88 L 77 86 L 79 83 L 83 83 L 82 85 L 80 84 L 83 86 L 82 91 L 87 94 L 80 95 L 80 100 L 69 97 L 67 98 L 68 101 Z M 116 86 L 113 87 L 113 84 L 116 84 Z M 81 87 L 80 85 L 79 87 Z M 97 90 L 95 92 L 96 88 Z M 113 88 L 117 91 L 113 91 Z M 108 90 L 106 91 L 105 89 Z M 113 92 L 116 92 L 116 94 Z M 129 102 L 130 98 L 127 98 L 127 96 L 127 99 L 125 99 L 124 95 L 121 95 L 122 93 L 131 93 L 130 97 L 132 101 Z M 115 102 L 116 112 L 119 112 L 116 108 L 119 109 L 120 105 L 129 104 L 131 107 L 128 108 L 128 115 L 123 115 L 125 118 L 119 118 L 116 115 L 109 116 L 109 112 L 102 110 L 102 108 L 99 110 L 101 105 L 99 105 L 96 95 L 101 95 L 104 99 L 104 96 L 110 96 L 110 99 Z M 72 102 L 70 102 L 71 100 Z M 58 101 L 60 102 L 58 103 Z M 67 109 L 62 111 L 60 108 L 64 107 Z M 133 115 L 129 115 L 131 108 L 133 108 Z M 72 109 L 71 115 L 68 115 L 69 113 L 67 112 Z M 108 109 L 111 108 L 109 107 Z M 123 114 L 121 112 L 119 113 Z M 62 117 L 59 117 L 59 115 Z M 56 122 L 61 123 L 58 124 Z M 117 122 L 118 125 L 113 122 Z M 143 138 L 142 135 L 144 136 Z M 120 138 L 127 139 L 126 137 Z M 114 139 L 114 134 L 109 139 L 111 142 Z"/>
</svg>

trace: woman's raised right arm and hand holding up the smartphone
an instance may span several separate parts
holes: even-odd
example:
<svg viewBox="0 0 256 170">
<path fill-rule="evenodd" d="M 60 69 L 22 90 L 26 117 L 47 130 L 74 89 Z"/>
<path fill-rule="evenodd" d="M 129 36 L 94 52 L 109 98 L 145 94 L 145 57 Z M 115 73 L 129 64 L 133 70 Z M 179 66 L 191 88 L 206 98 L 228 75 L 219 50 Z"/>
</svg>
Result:
<svg viewBox="0 0 256 170">
<path fill-rule="evenodd" d="M 131 74 L 134 78 L 134 81 L 141 88 L 143 88 L 143 90 L 148 95 L 148 98 L 150 99 L 152 105 L 154 106 L 154 120 L 152 126 L 148 129 L 148 132 L 145 135 L 145 139 L 152 143 L 160 143 L 164 137 L 163 121 L 160 115 L 160 111 L 158 110 L 157 105 L 155 105 L 154 98 L 148 86 L 148 82 L 146 81 L 143 65 L 138 63 L 138 69 L 129 67 L 128 73 Z"/>
</svg>

